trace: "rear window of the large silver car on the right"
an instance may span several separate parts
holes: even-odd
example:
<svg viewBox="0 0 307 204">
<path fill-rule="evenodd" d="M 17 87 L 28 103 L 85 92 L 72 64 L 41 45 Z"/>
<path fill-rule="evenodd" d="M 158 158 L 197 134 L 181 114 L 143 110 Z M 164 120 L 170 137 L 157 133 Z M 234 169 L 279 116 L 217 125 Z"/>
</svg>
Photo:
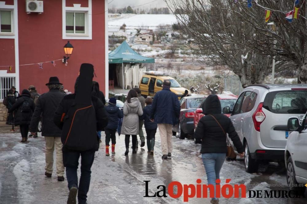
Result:
<svg viewBox="0 0 307 204">
<path fill-rule="evenodd" d="M 307 90 L 273 91 L 266 95 L 263 108 L 272 113 L 305 114 Z"/>
</svg>

